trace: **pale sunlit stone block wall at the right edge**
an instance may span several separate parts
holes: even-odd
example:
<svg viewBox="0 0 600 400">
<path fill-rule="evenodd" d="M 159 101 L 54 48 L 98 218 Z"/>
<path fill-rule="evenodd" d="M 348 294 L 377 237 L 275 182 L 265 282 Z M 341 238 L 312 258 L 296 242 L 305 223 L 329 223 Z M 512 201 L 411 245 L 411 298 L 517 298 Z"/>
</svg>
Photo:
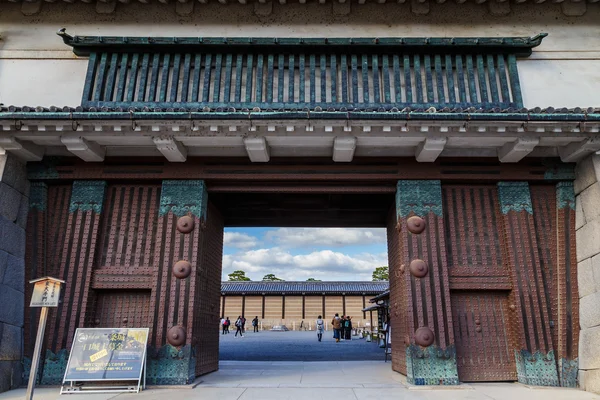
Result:
<svg viewBox="0 0 600 400">
<path fill-rule="evenodd" d="M 575 194 L 581 325 L 579 386 L 600 393 L 600 155 L 577 165 Z"/>
</svg>

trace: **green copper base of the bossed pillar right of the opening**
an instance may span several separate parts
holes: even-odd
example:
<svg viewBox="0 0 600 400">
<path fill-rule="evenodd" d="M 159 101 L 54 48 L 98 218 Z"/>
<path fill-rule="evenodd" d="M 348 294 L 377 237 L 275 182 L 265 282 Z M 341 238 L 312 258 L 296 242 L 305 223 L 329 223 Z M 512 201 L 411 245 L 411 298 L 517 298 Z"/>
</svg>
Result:
<svg viewBox="0 0 600 400">
<path fill-rule="evenodd" d="M 413 385 L 458 385 L 456 348 L 411 344 L 406 348 L 406 380 Z"/>
</svg>

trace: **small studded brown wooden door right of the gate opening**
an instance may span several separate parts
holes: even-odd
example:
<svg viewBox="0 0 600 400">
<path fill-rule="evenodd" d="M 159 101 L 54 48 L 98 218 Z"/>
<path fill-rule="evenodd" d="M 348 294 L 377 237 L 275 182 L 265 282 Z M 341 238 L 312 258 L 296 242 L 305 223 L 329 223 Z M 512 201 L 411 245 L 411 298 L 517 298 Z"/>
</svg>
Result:
<svg viewBox="0 0 600 400">
<path fill-rule="evenodd" d="M 460 381 L 516 380 L 508 292 L 453 291 L 451 301 Z"/>
</svg>

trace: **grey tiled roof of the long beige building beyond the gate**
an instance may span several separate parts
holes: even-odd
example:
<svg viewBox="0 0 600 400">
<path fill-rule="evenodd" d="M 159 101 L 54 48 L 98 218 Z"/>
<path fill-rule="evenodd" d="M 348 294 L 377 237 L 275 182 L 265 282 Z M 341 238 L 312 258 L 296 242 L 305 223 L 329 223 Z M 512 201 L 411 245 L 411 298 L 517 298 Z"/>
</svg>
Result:
<svg viewBox="0 0 600 400">
<path fill-rule="evenodd" d="M 366 294 L 387 290 L 389 282 L 222 282 L 223 294 Z"/>
</svg>

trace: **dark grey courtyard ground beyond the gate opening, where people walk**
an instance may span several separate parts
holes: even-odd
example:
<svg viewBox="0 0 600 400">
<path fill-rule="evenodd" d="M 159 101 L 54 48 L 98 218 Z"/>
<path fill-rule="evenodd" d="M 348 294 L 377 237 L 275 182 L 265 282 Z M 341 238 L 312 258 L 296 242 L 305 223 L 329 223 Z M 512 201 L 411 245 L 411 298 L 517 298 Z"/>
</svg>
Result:
<svg viewBox="0 0 600 400">
<path fill-rule="evenodd" d="M 219 358 L 239 361 L 383 361 L 383 349 L 375 341 L 353 337 L 336 343 L 331 331 L 317 341 L 315 331 L 248 332 L 220 335 Z"/>
</svg>

